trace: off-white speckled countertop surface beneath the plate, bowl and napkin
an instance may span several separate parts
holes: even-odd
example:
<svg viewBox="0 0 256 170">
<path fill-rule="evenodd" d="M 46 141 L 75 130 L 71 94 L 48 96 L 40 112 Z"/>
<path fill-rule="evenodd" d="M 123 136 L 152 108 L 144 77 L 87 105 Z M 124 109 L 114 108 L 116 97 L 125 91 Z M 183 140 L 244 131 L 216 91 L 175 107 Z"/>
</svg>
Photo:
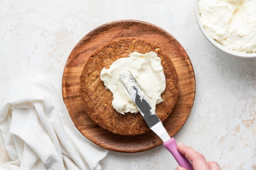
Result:
<svg viewBox="0 0 256 170">
<path fill-rule="evenodd" d="M 61 94 L 65 62 L 89 31 L 133 19 L 165 29 L 187 51 L 196 76 L 196 97 L 177 141 L 215 160 L 223 170 L 256 170 L 256 58 L 217 50 L 203 36 L 193 0 L 1 0 L 0 104 L 13 80 L 34 74 L 54 80 Z M 0 164 L 8 155 L 0 138 Z M 104 170 L 173 170 L 164 147 L 140 153 L 109 151 Z"/>
</svg>

